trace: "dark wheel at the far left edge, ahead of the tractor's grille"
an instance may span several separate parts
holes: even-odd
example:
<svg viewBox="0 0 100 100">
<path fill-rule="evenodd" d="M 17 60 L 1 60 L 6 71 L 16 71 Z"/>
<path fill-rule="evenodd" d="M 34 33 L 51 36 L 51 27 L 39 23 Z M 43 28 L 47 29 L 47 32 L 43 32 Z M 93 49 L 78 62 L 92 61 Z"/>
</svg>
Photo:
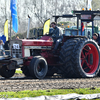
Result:
<svg viewBox="0 0 100 100">
<path fill-rule="evenodd" d="M 0 68 L 0 75 L 1 75 L 2 77 L 10 78 L 10 77 L 12 77 L 14 74 L 15 74 L 15 69 L 9 70 L 9 69 L 7 68 L 7 65 L 4 65 L 4 66 L 2 66 L 2 68 Z"/>
</svg>

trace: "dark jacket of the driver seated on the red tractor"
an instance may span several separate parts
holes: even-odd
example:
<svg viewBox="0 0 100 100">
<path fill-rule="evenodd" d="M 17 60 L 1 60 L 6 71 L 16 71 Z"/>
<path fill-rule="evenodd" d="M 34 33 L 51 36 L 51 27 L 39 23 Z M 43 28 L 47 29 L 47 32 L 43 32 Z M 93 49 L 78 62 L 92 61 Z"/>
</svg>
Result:
<svg viewBox="0 0 100 100">
<path fill-rule="evenodd" d="M 57 41 L 58 39 L 63 38 L 63 34 L 61 30 L 58 27 L 55 27 L 51 33 L 49 33 L 49 36 L 52 36 L 54 41 Z"/>
</svg>

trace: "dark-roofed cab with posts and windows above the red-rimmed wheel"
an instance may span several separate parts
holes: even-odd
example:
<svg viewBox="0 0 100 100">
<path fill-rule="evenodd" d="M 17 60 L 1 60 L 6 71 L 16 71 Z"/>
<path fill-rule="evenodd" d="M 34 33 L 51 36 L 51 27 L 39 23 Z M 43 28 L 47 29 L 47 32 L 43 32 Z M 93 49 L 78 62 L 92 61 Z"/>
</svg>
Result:
<svg viewBox="0 0 100 100">
<path fill-rule="evenodd" d="M 81 22 L 81 35 L 84 31 L 84 27 L 86 24 L 86 36 L 92 38 L 92 35 L 95 31 L 96 27 L 94 26 L 94 20 L 96 16 L 100 16 L 100 11 L 91 11 L 91 10 L 82 10 L 77 11 L 73 10 L 73 14 L 77 16 L 77 29 L 79 30 L 79 21 Z M 91 27 L 87 27 L 87 24 L 92 24 Z"/>
</svg>

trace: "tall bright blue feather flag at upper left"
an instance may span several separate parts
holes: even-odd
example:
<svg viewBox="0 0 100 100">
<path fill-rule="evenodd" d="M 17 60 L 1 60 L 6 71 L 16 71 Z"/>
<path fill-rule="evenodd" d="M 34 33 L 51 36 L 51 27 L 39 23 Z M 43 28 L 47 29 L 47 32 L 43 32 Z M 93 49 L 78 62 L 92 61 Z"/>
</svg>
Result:
<svg viewBox="0 0 100 100">
<path fill-rule="evenodd" d="M 13 30 L 17 33 L 18 32 L 17 0 L 10 1 L 10 10 L 11 10 Z"/>
</svg>

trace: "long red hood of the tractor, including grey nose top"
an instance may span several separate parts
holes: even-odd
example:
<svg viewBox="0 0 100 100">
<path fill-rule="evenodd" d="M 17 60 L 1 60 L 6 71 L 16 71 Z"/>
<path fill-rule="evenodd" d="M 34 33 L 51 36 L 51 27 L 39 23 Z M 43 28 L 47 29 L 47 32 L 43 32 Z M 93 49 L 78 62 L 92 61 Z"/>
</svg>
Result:
<svg viewBox="0 0 100 100">
<path fill-rule="evenodd" d="M 11 40 L 12 46 L 20 44 L 20 46 L 52 46 L 53 40 L 49 36 L 43 36 L 41 39 L 19 39 Z"/>
</svg>

